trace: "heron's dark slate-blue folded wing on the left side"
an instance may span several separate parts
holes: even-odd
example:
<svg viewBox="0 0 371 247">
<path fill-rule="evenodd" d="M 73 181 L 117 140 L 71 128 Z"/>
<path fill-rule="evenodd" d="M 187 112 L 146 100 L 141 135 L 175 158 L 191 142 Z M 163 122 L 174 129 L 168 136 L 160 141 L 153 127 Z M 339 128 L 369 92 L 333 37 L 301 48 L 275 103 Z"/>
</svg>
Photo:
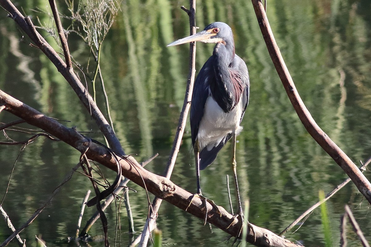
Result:
<svg viewBox="0 0 371 247">
<path fill-rule="evenodd" d="M 210 94 L 210 80 L 214 80 L 213 70 L 211 69 L 211 57 L 206 61 L 198 73 L 193 87 L 190 116 L 192 146 L 194 146 L 194 142 L 196 141 L 198 126 L 200 125 L 200 121 L 204 116 L 206 100 Z"/>
</svg>

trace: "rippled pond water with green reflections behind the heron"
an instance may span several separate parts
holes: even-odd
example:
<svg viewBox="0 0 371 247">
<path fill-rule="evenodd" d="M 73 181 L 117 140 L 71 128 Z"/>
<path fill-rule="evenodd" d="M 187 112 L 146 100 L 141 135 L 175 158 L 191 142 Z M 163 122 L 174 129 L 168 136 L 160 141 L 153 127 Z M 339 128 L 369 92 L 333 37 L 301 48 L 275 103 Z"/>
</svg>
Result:
<svg viewBox="0 0 371 247">
<path fill-rule="evenodd" d="M 16 6 L 32 17 L 53 25 L 44 13 L 32 11 L 49 6 L 47 1 L 17 1 Z M 123 1 L 121 12 L 108 33 L 101 51 L 101 69 L 109 97 L 114 128 L 127 154 L 144 161 L 159 153 L 146 168 L 162 174 L 171 150 L 183 105 L 188 75 L 188 45 L 166 47 L 188 36 L 188 16 L 180 6 L 188 1 Z M 67 14 L 63 1 L 59 10 Z M 283 89 L 267 52 L 250 1 L 198 1 L 196 23 L 200 29 L 214 21 L 229 24 L 234 33 L 236 53 L 246 61 L 250 73 L 250 104 L 242 133 L 237 137 L 237 172 L 242 198 L 250 199 L 249 220 L 279 233 L 303 211 L 318 201 L 319 190 L 331 191 L 347 176 L 306 132 Z M 92 131 L 87 136 L 104 141 L 94 121 L 53 64 L 39 50 L 28 45 L 12 19 L 1 10 L 0 89 L 50 117 L 69 120 L 68 127 Z M 268 1 L 267 16 L 276 41 L 304 103 L 319 126 L 358 165 L 371 156 L 371 2 L 351 1 Z M 63 24 L 68 26 L 68 20 Z M 53 44 L 53 38 L 40 31 Z M 69 35 L 70 50 L 86 71 L 89 49 L 79 37 Z M 53 44 L 54 47 L 55 43 Z M 197 70 L 211 55 L 212 44 L 197 44 Z M 91 61 L 92 63 L 92 61 Z M 91 74 L 94 66 L 89 67 Z M 77 71 L 75 69 L 75 71 Z M 91 88 L 91 85 L 89 84 Z M 98 106 L 105 112 L 98 83 Z M 0 114 L 1 122 L 16 118 Z M 27 125 L 23 125 L 27 126 Z M 24 134 L 6 131 L 14 140 Z M 2 137 L 2 141 L 6 140 Z M 20 146 L 0 148 L 0 192 L 5 193 Z M 4 210 L 16 227 L 40 207 L 78 163 L 80 154 L 61 142 L 39 138 L 28 145 L 17 160 Z M 229 208 L 226 174 L 230 169 L 231 146 L 226 145 L 213 165 L 201 171 L 203 193 L 216 204 Z M 115 174 L 102 168 L 113 181 Z M 196 192 L 194 158 L 187 124 L 171 180 Z M 369 171 L 365 172 L 370 180 Z M 232 186 L 232 180 L 230 181 Z M 129 187 L 135 230 L 141 231 L 147 215 L 145 191 Z M 75 173 L 52 203 L 23 231 L 29 246 L 41 234 L 47 246 L 66 246 L 75 235 L 80 204 L 91 183 Z M 233 191 L 233 187 L 231 187 Z M 152 195 L 151 199 L 153 198 Z M 232 198 L 233 195 L 232 195 Z M 233 200 L 234 203 L 234 200 Z M 367 240 L 371 223 L 366 200 L 349 183 L 327 203 L 333 245 L 339 243 L 339 218 L 349 204 Z M 93 213 L 85 210 L 83 223 Z M 115 208 L 107 211 L 111 244 L 115 236 Z M 129 241 L 127 215 L 120 212 L 121 246 Z M 157 226 L 164 246 L 226 246 L 227 234 L 203 227 L 200 219 L 163 202 Z M 90 234 L 99 236 L 99 222 Z M 137 233 L 138 234 L 138 233 Z M 9 236 L 0 221 L 0 239 Z M 320 210 L 316 209 L 291 241 L 305 246 L 324 246 Z M 102 246 L 102 242 L 91 243 Z M 10 246 L 16 246 L 13 242 Z M 348 246 L 360 246 L 348 227 Z"/>
</svg>

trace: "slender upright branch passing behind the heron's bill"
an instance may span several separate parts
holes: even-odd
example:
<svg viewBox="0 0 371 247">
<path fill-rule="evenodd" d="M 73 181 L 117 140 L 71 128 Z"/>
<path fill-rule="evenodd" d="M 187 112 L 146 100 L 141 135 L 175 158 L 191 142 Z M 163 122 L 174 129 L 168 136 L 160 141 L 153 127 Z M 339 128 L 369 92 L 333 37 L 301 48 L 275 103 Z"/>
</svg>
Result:
<svg viewBox="0 0 371 247">
<path fill-rule="evenodd" d="M 181 6 L 181 9 L 183 9 L 189 16 L 190 34 L 191 35 L 195 34 L 196 33 L 196 19 L 195 19 L 196 0 L 190 0 L 190 10 L 187 10 L 184 6 Z M 175 134 L 175 138 L 173 142 L 173 147 L 171 148 L 170 157 L 169 157 L 167 167 L 165 168 L 165 172 L 164 172 L 166 178 L 170 178 L 171 173 L 173 172 L 175 160 L 177 158 L 180 143 L 183 138 L 185 124 L 187 122 L 188 111 L 191 107 L 191 99 L 192 99 L 195 74 L 196 74 L 196 42 L 191 42 L 190 51 L 189 51 L 189 74 L 188 74 L 188 80 L 187 80 L 187 88 L 185 90 L 183 108 L 180 113 L 177 132 Z M 151 231 L 154 229 L 154 222 L 158 216 L 157 212 L 158 212 L 158 209 L 160 208 L 161 202 L 162 202 L 162 199 L 158 197 L 155 197 L 155 199 L 152 202 L 152 211 L 148 215 L 147 221 L 143 228 L 139 247 L 147 246 L 148 238 L 151 235 Z"/>
</svg>

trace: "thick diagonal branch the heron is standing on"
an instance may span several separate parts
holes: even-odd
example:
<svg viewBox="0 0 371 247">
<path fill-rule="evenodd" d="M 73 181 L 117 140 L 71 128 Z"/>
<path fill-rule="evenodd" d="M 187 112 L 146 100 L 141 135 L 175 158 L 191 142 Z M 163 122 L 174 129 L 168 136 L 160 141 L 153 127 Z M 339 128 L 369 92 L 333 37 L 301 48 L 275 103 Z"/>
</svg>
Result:
<svg viewBox="0 0 371 247">
<path fill-rule="evenodd" d="M 57 121 L 45 116 L 39 111 L 27 106 L 19 100 L 14 99 L 10 95 L 0 90 L 0 105 L 5 106 L 5 111 L 14 114 L 17 117 L 22 118 L 27 123 L 39 127 L 51 135 L 59 138 L 70 146 L 76 148 L 81 153 L 84 153 L 86 147 L 89 145 L 89 139 L 83 137 L 73 128 L 67 128 Z M 86 151 L 86 157 L 89 160 L 96 161 L 111 170 L 117 171 L 116 159 L 119 159 L 121 166 L 122 175 L 138 184 L 141 187 L 146 187 L 147 190 L 155 196 L 168 201 L 174 206 L 185 210 L 189 204 L 189 199 L 193 194 L 184 190 L 183 188 L 175 185 L 168 178 L 153 174 L 143 167 L 141 167 L 137 161 L 131 156 L 125 157 L 112 157 L 112 153 L 108 152 L 106 148 L 103 148 L 95 143 L 91 143 L 89 149 Z M 228 213 L 224 208 L 219 207 L 221 217 L 216 212 L 215 208 L 207 203 L 209 211 L 207 221 L 214 226 L 220 228 L 226 233 L 236 236 L 239 230 L 239 224 L 237 219 L 231 224 L 233 215 Z M 195 198 L 191 205 L 187 209 L 187 213 L 192 214 L 198 218 L 204 218 L 203 205 L 199 198 Z M 251 225 L 253 231 L 250 231 L 247 236 L 249 243 L 255 244 L 256 246 L 295 246 L 298 245 L 285 240 L 276 234 Z M 255 233 L 255 234 L 254 234 Z"/>
</svg>

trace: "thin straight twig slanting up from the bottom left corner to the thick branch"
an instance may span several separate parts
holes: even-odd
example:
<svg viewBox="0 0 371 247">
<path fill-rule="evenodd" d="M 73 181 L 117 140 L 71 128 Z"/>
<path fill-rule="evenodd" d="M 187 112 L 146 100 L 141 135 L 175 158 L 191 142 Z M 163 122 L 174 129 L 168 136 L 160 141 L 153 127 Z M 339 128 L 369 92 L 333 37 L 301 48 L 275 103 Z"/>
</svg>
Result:
<svg viewBox="0 0 371 247">
<path fill-rule="evenodd" d="M 33 220 L 35 220 L 35 218 L 37 216 L 39 216 L 39 214 L 44 210 L 44 208 L 49 205 L 49 203 L 53 200 L 53 198 L 55 197 L 55 195 L 60 191 L 60 188 L 62 188 L 63 184 L 65 184 L 68 180 L 70 180 L 70 178 L 72 177 L 72 174 L 80 167 L 80 164 L 77 164 L 75 167 L 72 168 L 72 170 L 65 176 L 65 178 L 63 179 L 62 183 L 60 183 L 58 185 L 58 187 L 53 191 L 53 193 L 50 195 L 50 197 L 43 203 L 43 205 L 36 210 L 36 212 L 26 221 L 26 223 L 24 223 L 20 228 L 18 228 L 16 231 L 13 232 L 12 235 L 10 235 L 3 243 L 0 244 L 0 247 L 1 246 L 6 246 L 10 241 L 12 241 L 12 239 L 17 236 L 17 234 L 19 234 L 21 231 L 23 231 L 24 228 L 28 227 Z"/>
</svg>

